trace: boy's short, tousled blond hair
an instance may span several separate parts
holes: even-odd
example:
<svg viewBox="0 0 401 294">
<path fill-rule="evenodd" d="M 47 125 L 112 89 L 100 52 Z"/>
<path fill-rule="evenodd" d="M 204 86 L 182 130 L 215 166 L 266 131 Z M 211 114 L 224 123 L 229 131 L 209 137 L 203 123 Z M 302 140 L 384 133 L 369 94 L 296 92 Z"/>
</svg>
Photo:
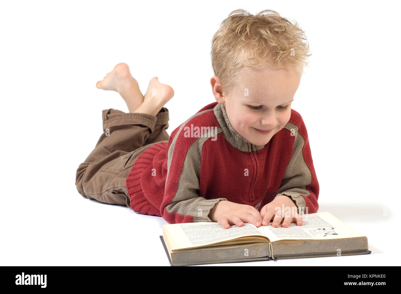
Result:
<svg viewBox="0 0 401 294">
<path fill-rule="evenodd" d="M 268 12 L 267 14 L 265 14 Z M 212 40 L 212 68 L 230 93 L 245 70 L 288 68 L 299 76 L 308 65 L 308 42 L 305 33 L 274 10 L 252 15 L 237 9 L 221 22 Z"/>
</svg>

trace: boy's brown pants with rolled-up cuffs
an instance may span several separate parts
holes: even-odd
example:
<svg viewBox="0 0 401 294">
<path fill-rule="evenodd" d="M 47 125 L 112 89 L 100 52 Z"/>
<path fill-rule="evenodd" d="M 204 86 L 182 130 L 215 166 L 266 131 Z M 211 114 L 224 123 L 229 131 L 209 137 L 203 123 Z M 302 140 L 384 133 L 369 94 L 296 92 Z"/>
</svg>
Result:
<svg viewBox="0 0 401 294">
<path fill-rule="evenodd" d="M 156 116 L 115 109 L 105 109 L 102 115 L 103 134 L 79 165 L 75 185 L 83 197 L 131 208 L 126 178 L 144 150 L 168 141 L 168 109 L 163 107 Z"/>
</svg>

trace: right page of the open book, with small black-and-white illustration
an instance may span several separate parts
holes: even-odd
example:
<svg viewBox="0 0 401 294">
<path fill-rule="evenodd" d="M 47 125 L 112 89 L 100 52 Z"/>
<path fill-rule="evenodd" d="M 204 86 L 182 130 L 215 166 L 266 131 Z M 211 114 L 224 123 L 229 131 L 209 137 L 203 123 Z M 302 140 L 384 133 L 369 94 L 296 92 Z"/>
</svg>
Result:
<svg viewBox="0 0 401 294">
<path fill-rule="evenodd" d="M 302 216 L 303 225 L 291 223 L 288 228 L 269 226 L 258 228 L 271 242 L 277 240 L 324 240 L 363 237 L 329 212 L 309 213 Z"/>
</svg>

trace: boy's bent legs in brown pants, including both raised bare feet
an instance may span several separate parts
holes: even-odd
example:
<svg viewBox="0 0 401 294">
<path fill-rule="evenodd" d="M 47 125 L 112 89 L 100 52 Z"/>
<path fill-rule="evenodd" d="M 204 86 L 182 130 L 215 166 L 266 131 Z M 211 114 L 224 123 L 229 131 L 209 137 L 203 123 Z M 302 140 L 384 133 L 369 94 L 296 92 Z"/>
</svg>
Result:
<svg viewBox="0 0 401 294">
<path fill-rule="evenodd" d="M 130 111 L 140 105 L 130 113 L 103 110 L 103 134 L 79 165 L 75 184 L 83 197 L 130 207 L 126 177 L 140 153 L 150 145 L 168 140 L 168 109 L 163 105 L 174 91 L 154 77 L 143 97 L 127 72 L 125 63 L 117 64 L 96 87 L 120 93 Z"/>
</svg>

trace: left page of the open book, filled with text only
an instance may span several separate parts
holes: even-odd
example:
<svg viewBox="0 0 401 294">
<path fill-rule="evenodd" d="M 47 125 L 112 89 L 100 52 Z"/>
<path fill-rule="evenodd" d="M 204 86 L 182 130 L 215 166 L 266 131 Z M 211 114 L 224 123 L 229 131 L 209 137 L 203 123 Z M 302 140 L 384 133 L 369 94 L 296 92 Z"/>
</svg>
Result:
<svg viewBox="0 0 401 294">
<path fill-rule="evenodd" d="M 218 222 L 197 222 L 163 225 L 169 237 L 174 240 L 174 249 L 200 247 L 216 242 L 232 240 L 243 236 L 263 236 L 253 224 L 245 223 L 242 227 L 232 225 L 225 229 Z"/>
</svg>

